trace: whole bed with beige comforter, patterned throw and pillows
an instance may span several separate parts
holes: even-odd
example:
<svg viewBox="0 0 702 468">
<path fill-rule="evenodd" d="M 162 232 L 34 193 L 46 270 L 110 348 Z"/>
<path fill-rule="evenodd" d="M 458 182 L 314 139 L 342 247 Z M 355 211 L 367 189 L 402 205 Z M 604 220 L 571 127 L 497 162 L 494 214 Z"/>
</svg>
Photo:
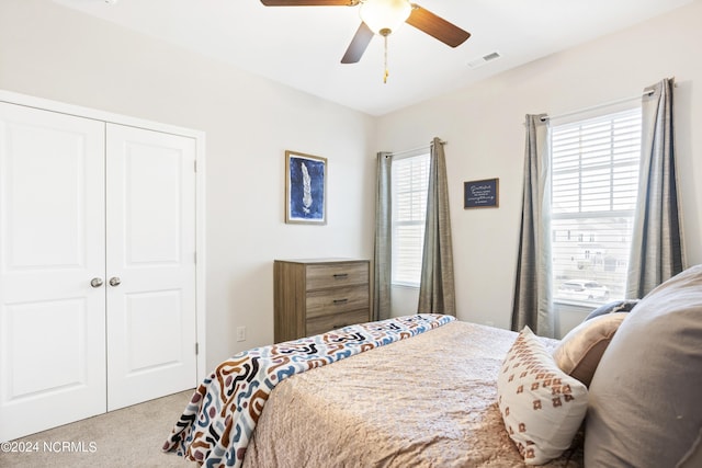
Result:
<svg viewBox="0 0 702 468">
<path fill-rule="evenodd" d="M 246 468 L 699 467 L 702 265 L 605 309 L 559 341 L 414 315 L 249 350 L 163 450 Z"/>
</svg>

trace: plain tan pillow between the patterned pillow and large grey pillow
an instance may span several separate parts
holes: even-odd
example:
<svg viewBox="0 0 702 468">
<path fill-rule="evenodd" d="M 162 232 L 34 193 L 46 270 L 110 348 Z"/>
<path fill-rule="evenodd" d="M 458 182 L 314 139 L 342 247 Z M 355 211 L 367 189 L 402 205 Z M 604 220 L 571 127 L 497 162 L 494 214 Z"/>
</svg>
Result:
<svg viewBox="0 0 702 468">
<path fill-rule="evenodd" d="M 586 320 L 570 330 L 553 352 L 561 370 L 589 387 L 604 350 L 627 315 L 607 313 Z"/>
</svg>

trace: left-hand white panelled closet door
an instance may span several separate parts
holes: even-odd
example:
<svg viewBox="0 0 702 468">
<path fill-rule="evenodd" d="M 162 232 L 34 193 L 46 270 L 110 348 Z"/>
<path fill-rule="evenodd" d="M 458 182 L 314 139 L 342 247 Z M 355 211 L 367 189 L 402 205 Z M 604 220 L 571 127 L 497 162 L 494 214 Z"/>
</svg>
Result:
<svg viewBox="0 0 702 468">
<path fill-rule="evenodd" d="M 0 441 L 105 411 L 103 153 L 102 122 L 0 103 Z"/>
</svg>

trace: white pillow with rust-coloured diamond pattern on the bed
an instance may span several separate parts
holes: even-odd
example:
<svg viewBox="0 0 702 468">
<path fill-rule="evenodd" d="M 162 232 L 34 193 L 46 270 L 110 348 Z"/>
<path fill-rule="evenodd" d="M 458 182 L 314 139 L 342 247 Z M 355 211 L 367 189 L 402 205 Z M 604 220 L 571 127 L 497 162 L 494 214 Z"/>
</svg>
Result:
<svg viewBox="0 0 702 468">
<path fill-rule="evenodd" d="M 507 432 L 526 465 L 561 456 L 570 446 L 588 406 L 587 387 L 556 366 L 529 327 L 505 357 L 497 392 Z"/>
</svg>

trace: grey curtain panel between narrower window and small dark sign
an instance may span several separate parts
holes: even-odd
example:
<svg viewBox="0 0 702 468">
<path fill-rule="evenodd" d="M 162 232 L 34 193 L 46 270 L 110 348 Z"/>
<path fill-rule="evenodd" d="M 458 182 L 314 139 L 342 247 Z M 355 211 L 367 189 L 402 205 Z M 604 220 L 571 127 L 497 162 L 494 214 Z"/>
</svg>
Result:
<svg viewBox="0 0 702 468">
<path fill-rule="evenodd" d="M 419 313 L 456 315 L 449 184 L 443 144 L 434 138 L 429 162 L 427 222 L 419 283 Z"/>
</svg>

